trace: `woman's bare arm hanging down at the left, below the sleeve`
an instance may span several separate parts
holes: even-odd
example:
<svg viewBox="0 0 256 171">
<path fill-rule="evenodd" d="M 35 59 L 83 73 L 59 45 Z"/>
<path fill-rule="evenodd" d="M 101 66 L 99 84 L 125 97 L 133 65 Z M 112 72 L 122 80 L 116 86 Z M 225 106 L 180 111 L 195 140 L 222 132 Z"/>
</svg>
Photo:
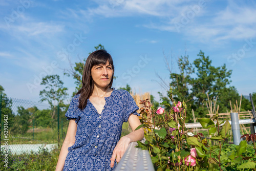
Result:
<svg viewBox="0 0 256 171">
<path fill-rule="evenodd" d="M 68 147 L 74 145 L 76 141 L 76 138 L 75 138 L 76 129 L 77 129 L 77 124 L 75 122 L 75 119 L 71 119 L 69 121 L 69 127 L 68 127 L 66 138 L 62 144 L 62 147 L 59 153 L 59 159 L 58 159 L 55 171 L 61 171 L 63 169 L 66 157 L 69 152 Z"/>
</svg>

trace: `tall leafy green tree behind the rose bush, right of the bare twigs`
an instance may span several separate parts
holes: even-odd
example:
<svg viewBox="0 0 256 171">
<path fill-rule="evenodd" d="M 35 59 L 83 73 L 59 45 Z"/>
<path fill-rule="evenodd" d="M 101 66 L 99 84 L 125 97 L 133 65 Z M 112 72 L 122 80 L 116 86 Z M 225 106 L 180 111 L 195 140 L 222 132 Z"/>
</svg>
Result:
<svg viewBox="0 0 256 171">
<path fill-rule="evenodd" d="M 227 85 L 231 82 L 232 71 L 227 71 L 225 64 L 221 67 L 212 66 L 209 56 L 205 57 L 202 51 L 199 52 L 198 56 L 199 58 L 193 62 L 197 77 L 193 79 L 191 89 L 195 98 L 195 114 L 203 117 L 207 113 L 205 108 L 207 94 L 210 99 L 218 96 L 219 113 L 226 112 L 229 100 L 234 102 L 239 97 L 236 88 L 227 88 Z"/>
</svg>

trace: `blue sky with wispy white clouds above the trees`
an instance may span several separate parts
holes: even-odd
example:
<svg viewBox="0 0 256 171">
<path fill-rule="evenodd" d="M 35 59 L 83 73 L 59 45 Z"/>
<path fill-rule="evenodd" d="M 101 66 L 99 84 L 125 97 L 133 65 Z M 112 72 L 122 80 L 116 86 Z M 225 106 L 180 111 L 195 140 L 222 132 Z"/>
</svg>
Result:
<svg viewBox="0 0 256 171">
<path fill-rule="evenodd" d="M 46 73 L 59 74 L 70 97 L 74 80 L 63 75 L 71 63 L 102 44 L 115 65 L 113 86 L 136 93 L 165 94 L 157 74 L 185 53 L 202 50 L 215 67 L 232 70 L 231 86 L 256 92 L 255 1 L 110 0 L 0 1 L 0 84 L 9 97 L 39 100 Z"/>
</svg>

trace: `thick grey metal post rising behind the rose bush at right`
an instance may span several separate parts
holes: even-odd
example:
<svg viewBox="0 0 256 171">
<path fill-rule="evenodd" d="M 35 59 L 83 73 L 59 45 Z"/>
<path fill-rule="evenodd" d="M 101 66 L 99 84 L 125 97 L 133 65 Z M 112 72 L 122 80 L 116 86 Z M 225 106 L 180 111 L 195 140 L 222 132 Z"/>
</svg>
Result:
<svg viewBox="0 0 256 171">
<path fill-rule="evenodd" d="M 239 125 L 239 119 L 238 119 L 238 113 L 230 113 L 231 115 L 231 127 L 232 127 L 232 133 L 233 133 L 233 143 L 235 145 L 239 145 L 241 140 L 241 134 L 240 134 L 240 125 Z"/>
</svg>

